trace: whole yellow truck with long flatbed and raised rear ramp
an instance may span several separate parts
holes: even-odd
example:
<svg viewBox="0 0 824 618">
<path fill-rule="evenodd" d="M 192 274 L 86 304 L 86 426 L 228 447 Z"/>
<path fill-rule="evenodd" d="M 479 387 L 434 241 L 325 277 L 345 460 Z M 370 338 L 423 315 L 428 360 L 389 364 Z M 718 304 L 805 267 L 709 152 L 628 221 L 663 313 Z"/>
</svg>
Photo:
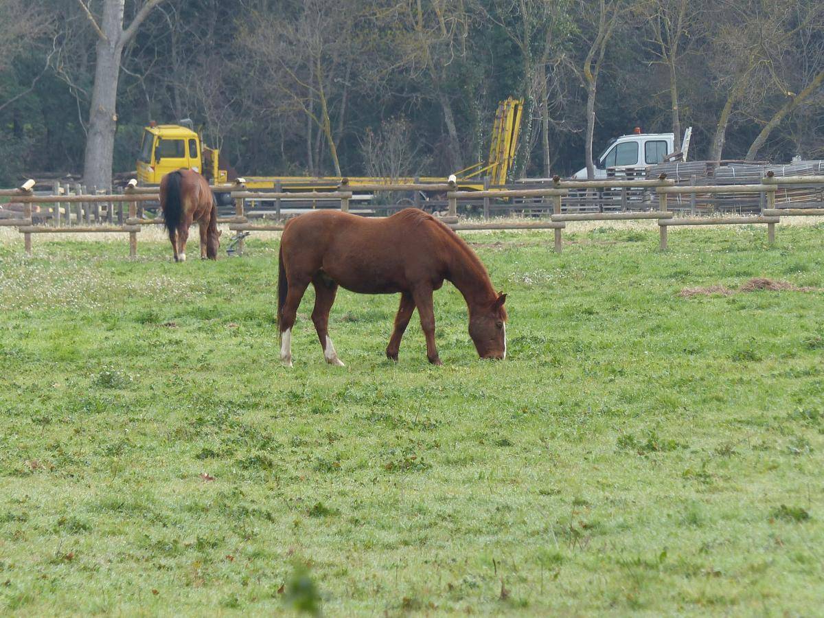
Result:
<svg viewBox="0 0 824 618">
<path fill-rule="evenodd" d="M 487 162 L 476 163 L 474 166 L 455 172 L 457 185 L 463 190 L 480 190 L 484 188 L 483 177 L 489 176 L 491 185 L 503 185 L 507 181 L 515 148 L 517 147 L 518 133 L 521 129 L 521 113 L 523 99 L 509 97 L 501 101 L 495 114 L 492 139 L 489 145 L 489 159 Z M 203 143 L 200 135 L 191 126 L 191 121 L 181 121 L 185 124 L 155 124 L 151 123 L 143 132 L 143 143 L 140 147 L 140 157 L 137 162 L 138 184 L 159 185 L 163 176 L 170 171 L 181 167 L 199 171 L 209 182 L 221 185 L 231 182 L 235 175 L 231 168 L 222 162 L 217 148 L 210 148 Z M 188 125 L 188 126 L 186 126 Z M 374 185 L 389 179 L 352 177 L 349 176 L 349 185 L 357 189 L 358 185 Z M 443 182 L 442 178 L 420 178 L 421 183 Z M 244 176 L 246 187 L 250 189 L 273 189 L 275 183 L 280 182 L 284 191 L 305 191 L 313 189 L 334 189 L 340 184 L 340 178 L 325 176 L 312 178 L 310 176 Z M 393 178 L 392 182 L 413 182 L 412 178 Z"/>
</svg>

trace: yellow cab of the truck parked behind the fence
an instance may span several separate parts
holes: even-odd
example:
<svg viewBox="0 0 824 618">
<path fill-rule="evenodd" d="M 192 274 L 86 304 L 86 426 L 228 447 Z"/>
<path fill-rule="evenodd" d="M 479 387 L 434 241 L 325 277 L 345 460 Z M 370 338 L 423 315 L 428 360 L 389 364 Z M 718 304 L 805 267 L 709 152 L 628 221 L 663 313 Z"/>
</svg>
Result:
<svg viewBox="0 0 824 618">
<path fill-rule="evenodd" d="M 218 170 L 216 154 L 203 147 L 192 129 L 179 124 L 150 124 L 140 146 L 138 184 L 159 185 L 163 176 L 181 167 L 200 172 L 212 183 L 226 182 L 226 171 Z"/>
</svg>

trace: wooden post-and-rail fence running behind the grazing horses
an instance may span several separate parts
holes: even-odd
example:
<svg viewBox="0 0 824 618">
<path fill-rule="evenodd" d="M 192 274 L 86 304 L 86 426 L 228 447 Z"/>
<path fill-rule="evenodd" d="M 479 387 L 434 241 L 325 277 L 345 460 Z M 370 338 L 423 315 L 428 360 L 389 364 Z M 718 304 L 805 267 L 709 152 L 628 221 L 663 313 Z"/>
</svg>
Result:
<svg viewBox="0 0 824 618">
<path fill-rule="evenodd" d="M 129 255 L 137 255 L 138 232 L 144 225 L 157 225 L 162 218 L 147 218 L 144 216 L 142 205 L 146 202 L 157 202 L 159 196 L 157 188 L 136 187 L 130 185 L 123 194 L 36 194 L 33 190 L 33 181 L 16 190 L 0 190 L 0 197 L 7 197 L 19 204 L 23 204 L 22 212 L 12 218 L 0 218 L 0 226 L 17 227 L 23 234 L 26 253 L 30 254 L 31 236 L 42 233 L 60 232 L 123 232 L 129 234 Z M 775 241 L 775 224 L 781 217 L 795 216 L 824 216 L 824 208 L 776 208 L 775 192 L 780 187 L 793 185 L 824 185 L 824 176 L 787 176 L 777 178 L 768 172 L 760 184 L 753 185 L 675 185 L 661 175 L 656 180 L 560 180 L 557 176 L 551 183 L 540 187 L 517 188 L 490 188 L 481 191 L 458 190 L 454 182 L 442 184 L 377 184 L 358 186 L 358 191 L 369 191 L 372 194 L 381 192 L 410 192 L 419 194 L 442 194 L 446 197 L 446 212 L 440 220 L 452 229 L 461 230 L 517 230 L 517 229 L 551 229 L 555 233 L 555 250 L 562 249 L 562 233 L 567 222 L 576 221 L 628 221 L 628 220 L 656 220 L 660 234 L 660 247 L 667 249 L 667 232 L 672 226 L 695 225 L 749 225 L 765 224 L 767 238 L 770 243 Z M 644 190 L 651 191 L 658 198 L 658 208 L 641 211 L 612 211 L 612 212 L 563 212 L 563 200 L 569 198 L 570 191 L 581 192 L 589 190 Z M 246 190 L 242 184 L 226 185 L 216 188 L 224 193 L 231 193 L 235 212 L 229 217 L 220 217 L 218 222 L 228 223 L 229 229 L 238 234 L 236 253 L 242 255 L 244 250 L 243 237 L 246 232 L 280 231 L 284 222 L 260 221 L 250 217 L 247 212 L 247 200 L 273 202 L 275 214 L 280 215 L 283 200 L 303 200 L 316 208 L 318 204 L 330 204 L 343 212 L 349 212 L 349 205 L 353 199 L 353 191 L 346 179 L 333 191 L 304 191 L 300 193 L 283 193 L 282 191 L 261 192 Z M 761 213 L 755 216 L 731 217 L 676 217 L 676 213 L 668 208 L 670 196 L 693 196 L 714 194 L 760 194 Z M 509 210 L 523 209 L 522 202 L 516 200 L 541 199 L 544 202 L 550 199 L 551 213 L 542 219 L 531 219 L 524 222 L 496 221 L 489 219 L 492 203 Z M 32 213 L 32 205 L 52 208 L 45 222 L 38 224 Z M 77 213 L 72 212 L 73 204 L 77 206 Z M 101 204 L 105 206 L 101 209 Z M 423 202 L 421 205 L 430 204 Z M 485 220 L 479 221 L 458 216 L 458 206 L 474 206 L 483 208 Z M 124 212 L 128 208 L 128 215 Z M 383 206 L 377 208 L 384 208 Z M 391 209 L 391 206 L 389 207 Z M 529 208 L 527 206 L 527 208 Z M 102 213 L 102 218 L 101 218 Z M 116 214 L 115 214 L 116 213 Z M 94 216 L 93 216 L 94 215 Z M 115 222 L 116 217 L 116 222 Z M 98 224 L 91 225 L 89 221 L 95 219 Z M 49 224 L 50 222 L 50 224 Z"/>
</svg>

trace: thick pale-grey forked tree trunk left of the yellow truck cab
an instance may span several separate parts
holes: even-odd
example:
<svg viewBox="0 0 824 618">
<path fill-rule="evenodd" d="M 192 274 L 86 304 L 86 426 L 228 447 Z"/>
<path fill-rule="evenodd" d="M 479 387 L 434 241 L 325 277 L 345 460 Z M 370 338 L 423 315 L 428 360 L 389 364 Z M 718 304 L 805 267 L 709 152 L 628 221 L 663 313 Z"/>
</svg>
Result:
<svg viewBox="0 0 824 618">
<path fill-rule="evenodd" d="M 123 49 L 154 7 L 163 0 L 147 0 L 124 28 L 125 0 L 103 0 L 101 16 L 95 16 L 83 0 L 77 3 L 86 13 L 97 35 L 94 86 L 91 90 L 89 129 L 83 178 L 88 185 L 111 185 L 112 159 L 117 129 L 117 86 Z"/>
</svg>

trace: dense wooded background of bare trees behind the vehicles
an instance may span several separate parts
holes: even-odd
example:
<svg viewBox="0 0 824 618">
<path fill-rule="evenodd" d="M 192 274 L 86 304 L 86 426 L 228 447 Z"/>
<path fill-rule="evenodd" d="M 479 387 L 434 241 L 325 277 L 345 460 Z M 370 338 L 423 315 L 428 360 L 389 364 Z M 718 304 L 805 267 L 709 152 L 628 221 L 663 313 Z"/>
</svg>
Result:
<svg viewBox="0 0 824 618">
<path fill-rule="evenodd" d="M 820 0 L 0 0 L 0 36 L 0 183 L 105 185 L 186 117 L 242 174 L 446 176 L 510 95 L 515 177 L 635 126 L 692 125 L 691 158 L 824 157 Z"/>
</svg>

